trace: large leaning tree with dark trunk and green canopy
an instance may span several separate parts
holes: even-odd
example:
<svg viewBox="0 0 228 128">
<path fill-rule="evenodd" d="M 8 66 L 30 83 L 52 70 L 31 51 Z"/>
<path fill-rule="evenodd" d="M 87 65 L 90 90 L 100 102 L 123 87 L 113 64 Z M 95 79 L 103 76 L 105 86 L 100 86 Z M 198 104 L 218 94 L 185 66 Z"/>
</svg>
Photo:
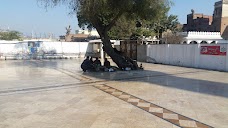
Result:
<svg viewBox="0 0 228 128">
<path fill-rule="evenodd" d="M 44 6 L 68 4 L 72 13 L 77 14 L 80 27 L 95 28 L 103 42 L 104 51 L 119 68 L 137 69 L 137 63 L 116 52 L 110 42 L 108 32 L 117 21 L 124 17 L 127 21 L 150 21 L 167 9 L 169 0 L 39 0 Z"/>
</svg>

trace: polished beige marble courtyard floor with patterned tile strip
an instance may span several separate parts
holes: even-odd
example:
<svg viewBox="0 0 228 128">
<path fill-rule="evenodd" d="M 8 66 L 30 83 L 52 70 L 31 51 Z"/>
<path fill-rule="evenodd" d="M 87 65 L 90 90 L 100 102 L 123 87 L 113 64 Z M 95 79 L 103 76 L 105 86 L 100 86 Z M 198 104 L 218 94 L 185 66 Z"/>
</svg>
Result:
<svg viewBox="0 0 228 128">
<path fill-rule="evenodd" d="M 0 61 L 0 127 L 228 127 L 226 72 L 143 63 L 83 73 L 81 62 Z"/>
</svg>

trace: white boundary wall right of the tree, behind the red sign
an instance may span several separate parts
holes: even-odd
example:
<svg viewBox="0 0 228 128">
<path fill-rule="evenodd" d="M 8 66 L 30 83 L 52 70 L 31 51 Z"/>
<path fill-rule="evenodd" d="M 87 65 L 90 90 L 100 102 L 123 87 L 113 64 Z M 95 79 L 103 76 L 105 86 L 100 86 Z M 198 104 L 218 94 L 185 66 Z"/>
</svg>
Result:
<svg viewBox="0 0 228 128">
<path fill-rule="evenodd" d="M 228 71 L 228 52 L 226 56 L 201 55 L 201 46 L 220 46 L 228 49 L 228 44 L 194 45 L 148 45 L 147 62 Z"/>
</svg>

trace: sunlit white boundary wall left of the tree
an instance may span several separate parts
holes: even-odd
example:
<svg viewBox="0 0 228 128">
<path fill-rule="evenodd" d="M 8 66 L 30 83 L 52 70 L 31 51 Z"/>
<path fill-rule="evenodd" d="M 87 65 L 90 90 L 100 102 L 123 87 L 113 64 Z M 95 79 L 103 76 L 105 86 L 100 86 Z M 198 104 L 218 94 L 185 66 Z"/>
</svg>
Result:
<svg viewBox="0 0 228 128">
<path fill-rule="evenodd" d="M 35 42 L 35 41 L 31 41 Z M 40 42 L 36 56 L 84 57 L 94 53 L 93 45 L 89 42 Z M 30 59 L 31 48 L 28 41 L 0 41 L 0 59 Z"/>
</svg>

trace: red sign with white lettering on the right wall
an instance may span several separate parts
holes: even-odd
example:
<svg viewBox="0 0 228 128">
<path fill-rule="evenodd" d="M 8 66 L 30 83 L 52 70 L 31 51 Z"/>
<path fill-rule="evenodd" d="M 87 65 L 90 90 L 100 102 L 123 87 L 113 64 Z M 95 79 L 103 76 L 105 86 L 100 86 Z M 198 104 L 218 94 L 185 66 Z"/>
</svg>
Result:
<svg viewBox="0 0 228 128">
<path fill-rule="evenodd" d="M 201 46 L 200 53 L 202 55 L 226 56 L 226 50 L 224 46 Z"/>
</svg>

